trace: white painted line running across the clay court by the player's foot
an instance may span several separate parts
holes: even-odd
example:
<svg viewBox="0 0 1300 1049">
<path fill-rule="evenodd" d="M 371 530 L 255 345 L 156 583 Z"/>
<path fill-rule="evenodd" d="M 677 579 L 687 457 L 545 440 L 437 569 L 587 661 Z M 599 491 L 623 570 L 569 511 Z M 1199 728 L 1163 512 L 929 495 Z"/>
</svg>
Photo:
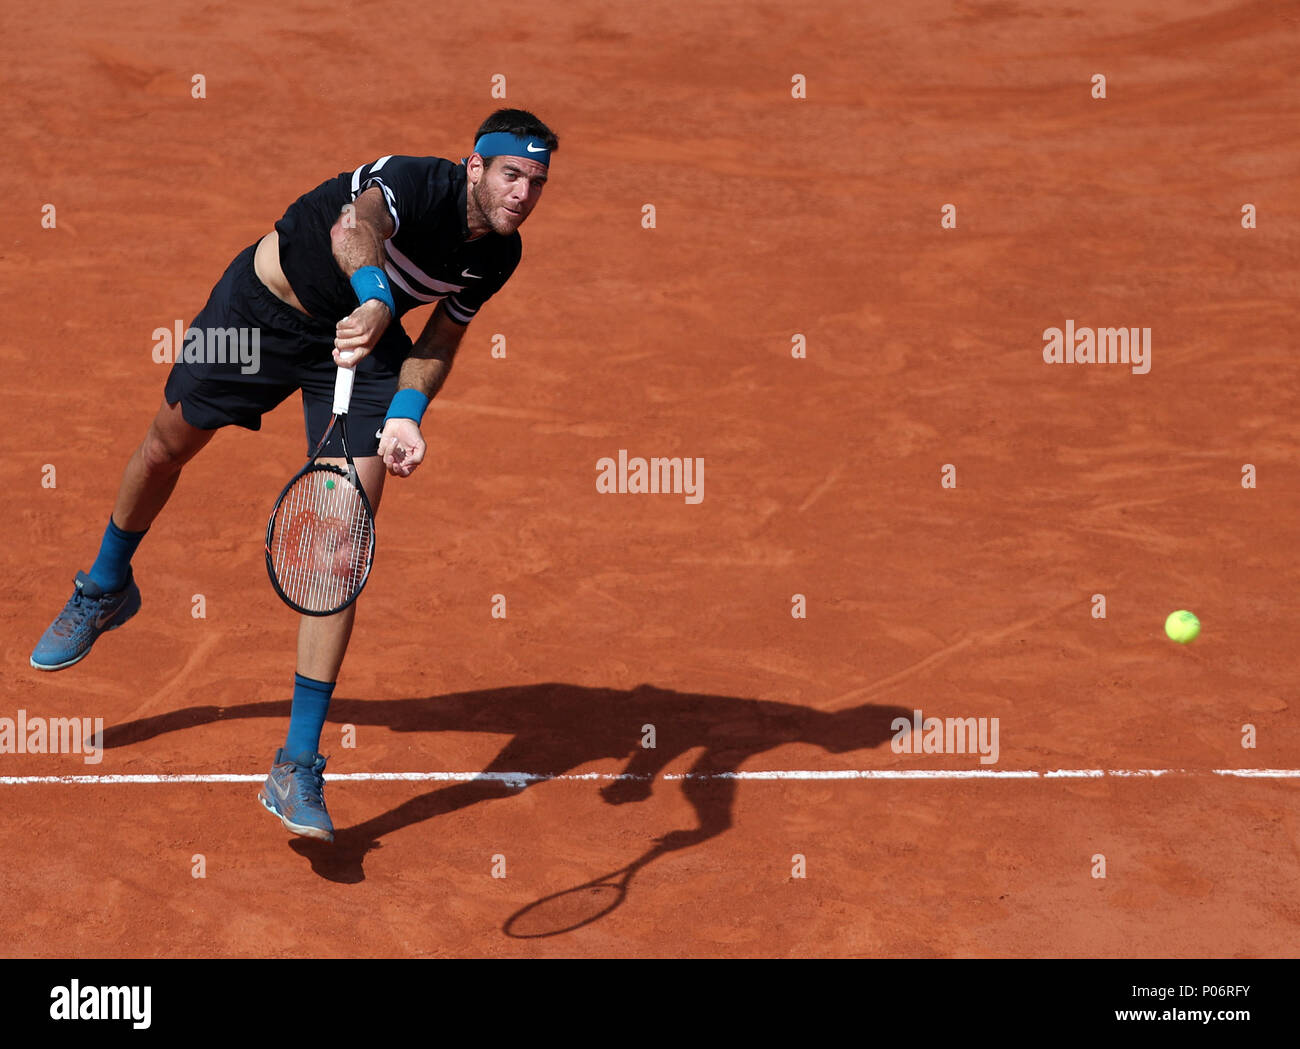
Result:
<svg viewBox="0 0 1300 1049">
<path fill-rule="evenodd" d="M 1240 779 L 1295 780 L 1300 768 L 1057 768 L 1035 770 L 993 768 L 915 768 L 915 770 L 783 770 L 774 772 L 664 772 L 660 776 L 637 776 L 618 772 L 572 772 L 559 776 L 536 772 L 343 772 L 328 775 L 328 783 L 495 783 L 529 784 L 566 780 L 1100 780 L 1158 779 L 1160 776 L 1234 776 Z M 165 784 L 165 783 L 261 783 L 265 775 L 178 772 L 100 776 L 0 776 L 0 786 L 32 784 Z"/>
</svg>

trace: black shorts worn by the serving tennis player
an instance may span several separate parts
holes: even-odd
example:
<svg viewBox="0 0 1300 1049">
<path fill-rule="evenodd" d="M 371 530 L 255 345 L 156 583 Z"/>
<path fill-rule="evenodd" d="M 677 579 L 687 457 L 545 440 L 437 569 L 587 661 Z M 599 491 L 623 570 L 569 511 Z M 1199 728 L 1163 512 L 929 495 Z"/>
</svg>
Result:
<svg viewBox="0 0 1300 1049">
<path fill-rule="evenodd" d="M 200 430 L 231 424 L 260 430 L 265 412 L 302 390 L 311 455 L 334 409 L 334 321 L 308 317 L 277 299 L 254 270 L 256 248 L 252 244 L 239 252 L 212 289 L 208 304 L 190 325 L 203 338 L 187 331 L 186 346 L 176 347 L 164 395 L 168 404 L 179 402 L 185 421 Z M 218 334 L 207 334 L 212 331 Z M 356 365 L 347 412 L 352 455 L 378 454 L 376 432 L 384 425 L 398 372 L 410 352 L 411 339 L 394 321 Z M 342 451 L 338 434 L 332 434 L 325 452 Z"/>
</svg>

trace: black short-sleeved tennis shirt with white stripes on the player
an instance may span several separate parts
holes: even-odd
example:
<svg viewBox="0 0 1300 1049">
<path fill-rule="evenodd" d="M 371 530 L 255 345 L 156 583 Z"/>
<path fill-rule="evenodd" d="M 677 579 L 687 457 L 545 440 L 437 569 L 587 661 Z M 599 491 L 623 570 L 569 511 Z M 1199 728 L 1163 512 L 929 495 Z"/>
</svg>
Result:
<svg viewBox="0 0 1300 1049">
<path fill-rule="evenodd" d="M 396 226 L 384 243 L 384 270 L 393 285 L 398 317 L 446 299 L 451 318 L 469 324 L 515 272 L 523 240 L 517 231 L 468 239 L 468 185 L 464 164 L 432 156 L 385 156 L 298 198 L 276 231 L 281 269 L 303 308 L 332 324 L 356 309 L 356 294 L 334 261 L 329 231 L 344 204 L 378 186 Z"/>
</svg>

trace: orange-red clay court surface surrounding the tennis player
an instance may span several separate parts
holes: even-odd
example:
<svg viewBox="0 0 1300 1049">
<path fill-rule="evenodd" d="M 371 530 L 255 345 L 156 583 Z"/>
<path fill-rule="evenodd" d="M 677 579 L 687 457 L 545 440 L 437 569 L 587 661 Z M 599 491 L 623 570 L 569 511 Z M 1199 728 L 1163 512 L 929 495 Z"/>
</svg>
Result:
<svg viewBox="0 0 1300 1049">
<path fill-rule="evenodd" d="M 51 0 L 6 27 L 0 718 L 103 718 L 105 750 L 0 754 L 3 953 L 1294 954 L 1300 8 L 385 22 Z M 560 151 L 389 481 L 315 846 L 255 799 L 296 399 L 186 469 L 125 629 L 27 655 L 157 408 L 153 329 L 308 188 L 459 159 L 500 105 Z M 1149 372 L 1044 363 L 1067 320 L 1149 328 Z M 702 502 L 599 494 L 620 448 L 703 459 Z M 915 710 L 998 719 L 996 763 L 896 753 Z M 578 928 L 529 909 L 629 866 Z"/>
</svg>

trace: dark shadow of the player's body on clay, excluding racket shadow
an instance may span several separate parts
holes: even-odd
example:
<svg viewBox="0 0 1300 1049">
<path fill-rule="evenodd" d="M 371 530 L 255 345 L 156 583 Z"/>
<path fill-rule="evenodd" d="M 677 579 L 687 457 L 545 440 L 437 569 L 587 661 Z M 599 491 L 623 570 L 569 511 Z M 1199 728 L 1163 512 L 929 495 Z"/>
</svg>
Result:
<svg viewBox="0 0 1300 1049">
<path fill-rule="evenodd" d="M 287 716 L 287 701 L 188 707 L 107 728 L 104 746 L 129 746 L 212 721 Z M 640 863 L 633 862 L 644 866 L 729 828 L 737 781 L 727 773 L 737 772 L 754 755 L 785 744 L 811 744 L 831 754 L 866 750 L 896 734 L 896 718 L 910 721 L 911 711 L 863 703 L 824 714 L 792 703 L 653 685 L 625 690 L 542 684 L 416 699 L 335 699 L 329 720 L 339 724 L 382 725 L 396 732 L 485 732 L 510 740 L 481 779 L 437 786 L 364 823 L 337 828 L 333 844 L 311 838 L 290 844 L 321 877 L 361 881 L 365 854 L 386 836 L 477 802 L 519 794 L 534 783 L 510 783 L 502 773 L 560 776 L 592 762 L 621 760 L 623 777 L 608 780 L 599 794 L 607 805 L 629 805 L 650 797 L 670 763 L 702 747 L 689 775 L 676 781 L 696 811 L 697 825 L 660 837 Z M 654 727 L 654 747 L 642 746 L 649 725 Z"/>
</svg>

